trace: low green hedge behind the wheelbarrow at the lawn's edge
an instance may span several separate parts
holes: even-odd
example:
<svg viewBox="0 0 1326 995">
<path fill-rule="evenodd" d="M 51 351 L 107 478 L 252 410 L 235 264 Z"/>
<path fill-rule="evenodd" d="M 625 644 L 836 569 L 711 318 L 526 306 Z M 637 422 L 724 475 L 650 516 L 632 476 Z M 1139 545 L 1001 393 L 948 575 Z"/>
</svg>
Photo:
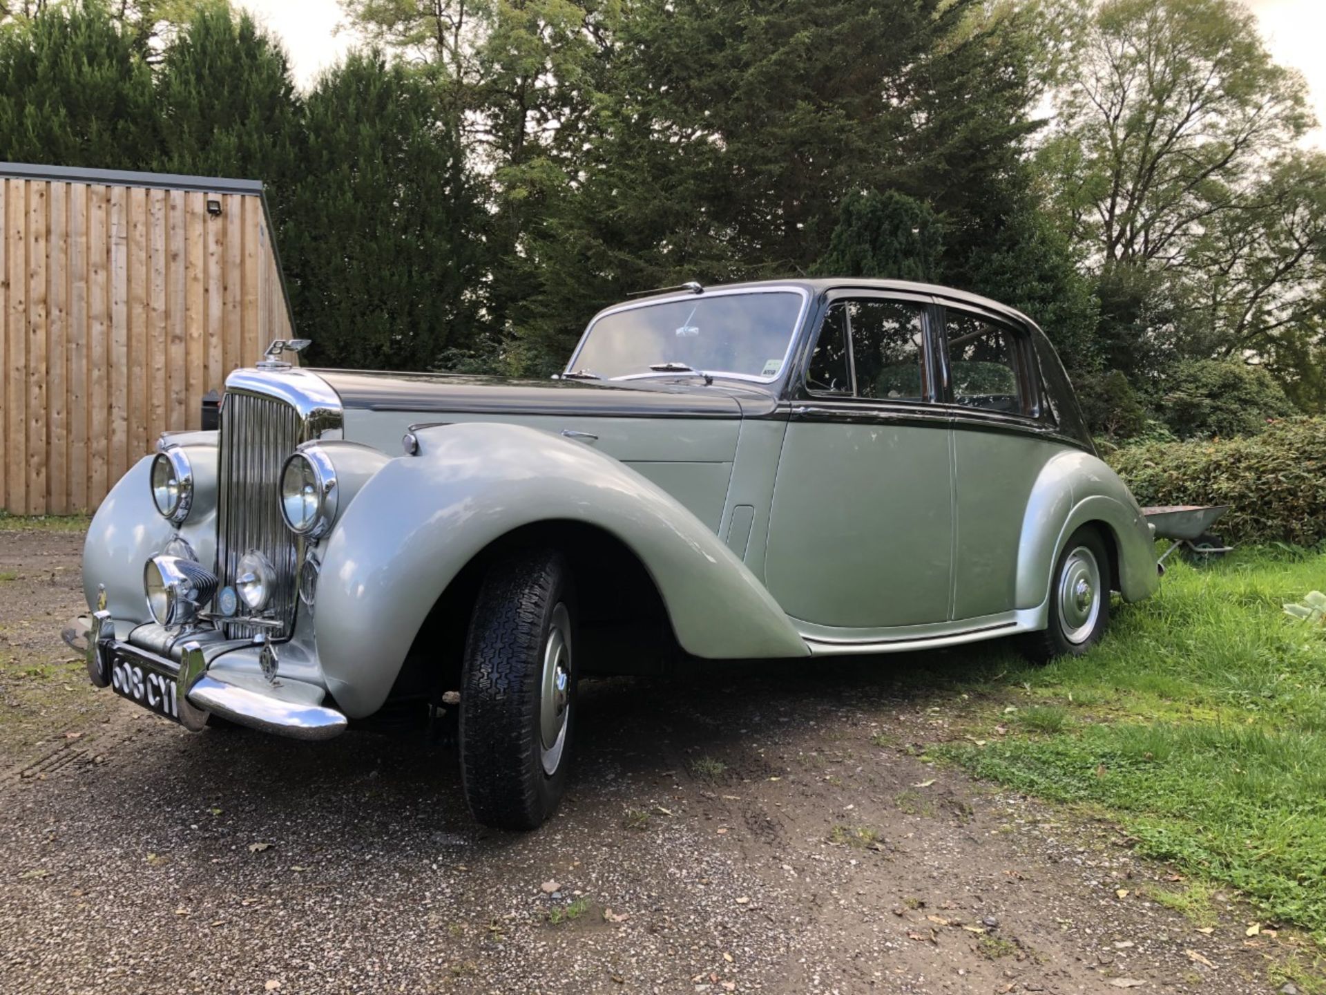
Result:
<svg viewBox="0 0 1326 995">
<path fill-rule="evenodd" d="M 1228 504 L 1215 531 L 1232 543 L 1326 540 L 1326 418 L 1286 419 L 1246 438 L 1124 446 L 1105 458 L 1142 504 Z"/>
</svg>

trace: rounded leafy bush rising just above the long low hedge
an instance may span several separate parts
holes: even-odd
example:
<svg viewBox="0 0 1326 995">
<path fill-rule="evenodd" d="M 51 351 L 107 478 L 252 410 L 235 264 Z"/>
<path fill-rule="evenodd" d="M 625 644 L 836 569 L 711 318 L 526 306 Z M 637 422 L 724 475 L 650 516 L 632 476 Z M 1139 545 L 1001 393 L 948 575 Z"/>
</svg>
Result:
<svg viewBox="0 0 1326 995">
<path fill-rule="evenodd" d="M 1237 360 L 1179 364 L 1159 409 L 1180 439 L 1254 435 L 1268 418 L 1286 418 L 1297 410 L 1266 370 Z"/>
</svg>

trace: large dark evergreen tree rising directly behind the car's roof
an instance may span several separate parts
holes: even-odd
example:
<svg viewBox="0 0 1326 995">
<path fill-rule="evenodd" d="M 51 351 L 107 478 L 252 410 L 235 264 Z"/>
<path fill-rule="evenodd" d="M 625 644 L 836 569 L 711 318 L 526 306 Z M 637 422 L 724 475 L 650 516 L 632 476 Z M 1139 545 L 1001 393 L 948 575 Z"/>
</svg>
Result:
<svg viewBox="0 0 1326 995">
<path fill-rule="evenodd" d="M 1022 21 L 981 9 L 623 5 L 582 166 L 528 233 L 521 340 L 565 356 L 585 312 L 627 291 L 805 272 L 859 190 L 943 211 L 967 260 L 1005 224 L 1033 127 Z"/>
</svg>

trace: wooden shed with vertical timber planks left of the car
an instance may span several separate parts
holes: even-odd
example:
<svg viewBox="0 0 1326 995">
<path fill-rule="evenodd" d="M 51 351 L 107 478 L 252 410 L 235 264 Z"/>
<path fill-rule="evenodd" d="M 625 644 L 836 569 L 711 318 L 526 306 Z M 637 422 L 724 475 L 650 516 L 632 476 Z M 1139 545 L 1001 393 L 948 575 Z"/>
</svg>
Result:
<svg viewBox="0 0 1326 995">
<path fill-rule="evenodd" d="M 0 509 L 95 508 L 292 333 L 256 180 L 0 163 Z"/>
</svg>

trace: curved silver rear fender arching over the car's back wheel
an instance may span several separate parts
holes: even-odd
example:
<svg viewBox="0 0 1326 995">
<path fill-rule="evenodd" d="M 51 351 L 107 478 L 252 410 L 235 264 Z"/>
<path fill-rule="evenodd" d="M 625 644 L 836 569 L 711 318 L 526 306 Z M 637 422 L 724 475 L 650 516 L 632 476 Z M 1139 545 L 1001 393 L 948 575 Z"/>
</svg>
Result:
<svg viewBox="0 0 1326 995">
<path fill-rule="evenodd" d="M 1078 450 L 1055 455 L 1041 470 L 1022 521 L 1017 556 L 1017 606 L 1040 608 L 1050 593 L 1050 573 L 1082 525 L 1103 523 L 1119 555 L 1119 590 L 1139 601 L 1159 585 L 1155 547 L 1142 508 L 1098 456 Z"/>
</svg>

